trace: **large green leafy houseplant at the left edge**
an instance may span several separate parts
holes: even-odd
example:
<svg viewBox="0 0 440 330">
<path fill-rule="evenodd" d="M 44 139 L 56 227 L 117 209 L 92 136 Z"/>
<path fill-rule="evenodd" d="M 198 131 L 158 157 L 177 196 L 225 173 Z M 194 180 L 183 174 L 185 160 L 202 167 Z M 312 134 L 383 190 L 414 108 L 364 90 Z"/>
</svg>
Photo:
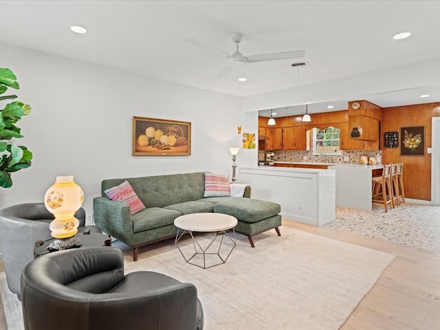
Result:
<svg viewBox="0 0 440 330">
<path fill-rule="evenodd" d="M 17 77 L 10 69 L 0 68 L 0 102 L 17 98 L 17 95 L 3 95 L 8 88 L 19 89 Z M 2 105 L 0 103 L 0 109 Z M 0 110 L 0 186 L 9 188 L 12 186 L 11 174 L 31 164 L 32 153 L 25 146 L 12 144 L 13 138 L 23 137 L 21 129 L 15 124 L 21 120 L 23 115 L 32 111 L 29 104 L 15 100 L 5 105 Z M 6 141 L 4 141 L 6 140 Z"/>
</svg>

